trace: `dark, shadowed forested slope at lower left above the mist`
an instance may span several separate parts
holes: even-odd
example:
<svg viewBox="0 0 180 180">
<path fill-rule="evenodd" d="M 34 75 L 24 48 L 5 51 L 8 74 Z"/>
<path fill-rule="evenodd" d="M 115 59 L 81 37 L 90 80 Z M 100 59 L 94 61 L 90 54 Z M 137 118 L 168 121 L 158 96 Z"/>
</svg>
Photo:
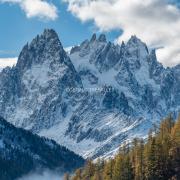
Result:
<svg viewBox="0 0 180 180">
<path fill-rule="evenodd" d="M 0 117 L 0 179 L 13 180 L 40 168 L 71 172 L 84 160 L 52 140 L 16 128 Z"/>
</svg>

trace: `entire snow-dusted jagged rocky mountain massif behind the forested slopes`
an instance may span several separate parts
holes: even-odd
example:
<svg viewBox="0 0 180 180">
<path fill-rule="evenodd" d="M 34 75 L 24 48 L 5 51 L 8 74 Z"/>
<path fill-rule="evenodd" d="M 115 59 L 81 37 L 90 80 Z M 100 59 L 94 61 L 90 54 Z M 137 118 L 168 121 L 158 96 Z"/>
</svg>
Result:
<svg viewBox="0 0 180 180">
<path fill-rule="evenodd" d="M 179 77 L 180 66 L 163 67 L 136 36 L 115 45 L 94 34 L 66 53 L 45 30 L 0 73 L 0 115 L 83 157 L 110 156 L 177 115 Z"/>
</svg>

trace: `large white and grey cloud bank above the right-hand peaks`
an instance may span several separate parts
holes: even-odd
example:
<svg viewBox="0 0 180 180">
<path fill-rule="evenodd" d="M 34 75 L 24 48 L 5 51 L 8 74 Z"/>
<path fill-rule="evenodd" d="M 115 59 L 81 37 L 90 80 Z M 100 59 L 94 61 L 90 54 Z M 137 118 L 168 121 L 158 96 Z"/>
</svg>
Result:
<svg viewBox="0 0 180 180">
<path fill-rule="evenodd" d="M 64 0 L 81 21 L 93 20 L 102 31 L 122 29 L 118 42 L 137 35 L 166 66 L 180 63 L 180 9 L 166 0 Z"/>
</svg>

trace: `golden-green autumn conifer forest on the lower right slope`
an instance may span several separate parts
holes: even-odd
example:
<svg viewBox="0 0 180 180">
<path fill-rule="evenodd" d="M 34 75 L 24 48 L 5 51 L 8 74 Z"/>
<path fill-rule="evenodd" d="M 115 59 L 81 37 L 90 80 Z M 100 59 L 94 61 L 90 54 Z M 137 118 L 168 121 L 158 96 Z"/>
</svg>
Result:
<svg viewBox="0 0 180 180">
<path fill-rule="evenodd" d="M 180 180 L 180 116 L 165 118 L 148 138 L 123 144 L 113 158 L 87 160 L 64 180 Z"/>
</svg>

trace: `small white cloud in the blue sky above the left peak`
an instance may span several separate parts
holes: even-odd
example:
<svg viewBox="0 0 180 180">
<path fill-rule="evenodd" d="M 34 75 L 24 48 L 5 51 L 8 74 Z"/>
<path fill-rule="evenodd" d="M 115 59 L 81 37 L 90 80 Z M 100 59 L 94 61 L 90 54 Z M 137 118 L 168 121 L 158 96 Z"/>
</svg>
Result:
<svg viewBox="0 0 180 180">
<path fill-rule="evenodd" d="M 55 20 L 58 17 L 56 6 L 44 0 L 0 0 L 0 2 L 18 4 L 28 18 Z"/>
</svg>

